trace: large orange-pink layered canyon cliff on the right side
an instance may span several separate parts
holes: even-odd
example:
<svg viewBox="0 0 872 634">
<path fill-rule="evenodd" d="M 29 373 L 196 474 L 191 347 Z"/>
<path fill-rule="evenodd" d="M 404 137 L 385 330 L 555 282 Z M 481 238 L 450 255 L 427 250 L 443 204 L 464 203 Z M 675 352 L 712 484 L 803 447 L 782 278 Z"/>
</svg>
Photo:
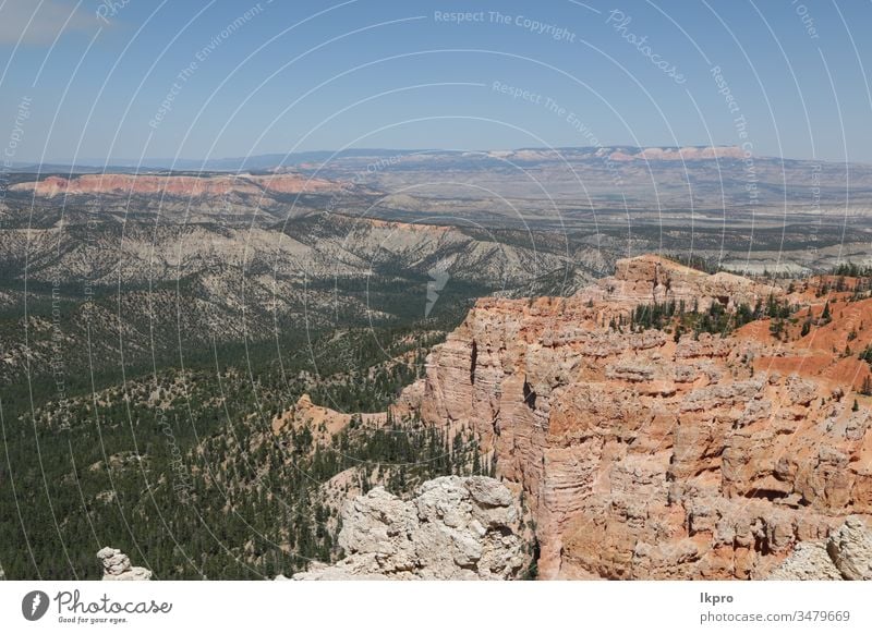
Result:
<svg viewBox="0 0 872 634">
<path fill-rule="evenodd" d="M 481 300 L 400 406 L 476 430 L 525 491 L 542 578 L 764 578 L 872 514 L 869 367 L 843 353 L 872 343 L 872 300 L 831 296 L 826 321 L 825 298 L 791 292 L 641 256 L 573 297 Z M 770 297 L 814 326 L 615 326 L 639 304 Z"/>
</svg>

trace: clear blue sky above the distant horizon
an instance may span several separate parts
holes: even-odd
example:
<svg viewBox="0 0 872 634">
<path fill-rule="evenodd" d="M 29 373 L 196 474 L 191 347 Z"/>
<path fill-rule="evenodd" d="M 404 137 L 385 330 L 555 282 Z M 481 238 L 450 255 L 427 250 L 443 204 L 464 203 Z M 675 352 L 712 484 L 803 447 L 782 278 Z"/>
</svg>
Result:
<svg viewBox="0 0 872 634">
<path fill-rule="evenodd" d="M 823 0 L 0 0 L 0 144 L 17 162 L 596 143 L 872 162 L 870 24 L 872 3 Z"/>
</svg>

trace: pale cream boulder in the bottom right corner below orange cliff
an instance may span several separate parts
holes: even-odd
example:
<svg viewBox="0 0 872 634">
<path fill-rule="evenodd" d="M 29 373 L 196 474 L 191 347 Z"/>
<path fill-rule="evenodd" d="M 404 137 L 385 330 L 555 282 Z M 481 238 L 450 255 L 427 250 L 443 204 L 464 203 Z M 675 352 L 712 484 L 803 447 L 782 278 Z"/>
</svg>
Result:
<svg viewBox="0 0 872 634">
<path fill-rule="evenodd" d="M 872 581 L 872 531 L 850 516 L 826 541 L 798 544 L 770 578 Z"/>
</svg>

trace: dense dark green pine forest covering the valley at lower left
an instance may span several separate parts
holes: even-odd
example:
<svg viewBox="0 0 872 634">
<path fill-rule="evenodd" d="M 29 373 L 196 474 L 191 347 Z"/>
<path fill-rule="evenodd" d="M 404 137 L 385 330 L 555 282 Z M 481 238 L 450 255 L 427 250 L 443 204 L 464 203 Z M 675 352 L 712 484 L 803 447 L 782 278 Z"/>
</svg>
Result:
<svg viewBox="0 0 872 634">
<path fill-rule="evenodd" d="M 3 386 L 0 566 L 8 578 L 98 578 L 107 545 L 155 578 L 269 578 L 335 560 L 348 495 L 491 465 L 467 430 L 409 417 L 356 416 L 329 442 L 307 424 L 275 435 L 270 422 L 303 393 L 384 411 L 468 307 L 288 338 L 280 357 L 275 343 L 226 344 L 123 382 L 83 371 L 64 399 L 50 376 Z"/>
</svg>

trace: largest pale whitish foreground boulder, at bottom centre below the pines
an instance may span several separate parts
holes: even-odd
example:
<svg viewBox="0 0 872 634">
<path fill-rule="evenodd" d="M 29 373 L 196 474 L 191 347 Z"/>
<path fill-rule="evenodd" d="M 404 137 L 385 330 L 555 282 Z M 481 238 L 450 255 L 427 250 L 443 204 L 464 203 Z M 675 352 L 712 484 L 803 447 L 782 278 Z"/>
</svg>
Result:
<svg viewBox="0 0 872 634">
<path fill-rule="evenodd" d="M 436 478 L 408 501 L 376 487 L 342 511 L 346 558 L 293 578 L 519 578 L 531 563 L 524 531 L 519 499 L 493 478 Z"/>
</svg>

